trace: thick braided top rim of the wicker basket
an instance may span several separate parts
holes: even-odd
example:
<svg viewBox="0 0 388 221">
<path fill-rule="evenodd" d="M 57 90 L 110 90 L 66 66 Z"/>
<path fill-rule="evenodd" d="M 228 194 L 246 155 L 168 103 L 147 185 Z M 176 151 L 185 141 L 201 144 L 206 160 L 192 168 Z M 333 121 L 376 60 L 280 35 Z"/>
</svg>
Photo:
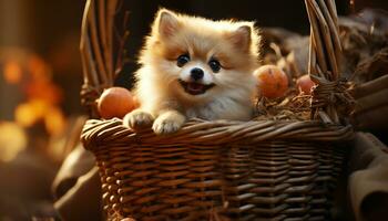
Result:
<svg viewBox="0 0 388 221">
<path fill-rule="evenodd" d="M 321 120 L 203 120 L 191 119 L 182 129 L 171 135 L 155 135 L 151 128 L 134 131 L 120 118 L 89 119 L 81 140 L 86 149 L 94 150 L 115 144 L 143 145 L 226 145 L 259 141 L 343 141 L 353 137 L 350 125 L 324 124 Z"/>
</svg>

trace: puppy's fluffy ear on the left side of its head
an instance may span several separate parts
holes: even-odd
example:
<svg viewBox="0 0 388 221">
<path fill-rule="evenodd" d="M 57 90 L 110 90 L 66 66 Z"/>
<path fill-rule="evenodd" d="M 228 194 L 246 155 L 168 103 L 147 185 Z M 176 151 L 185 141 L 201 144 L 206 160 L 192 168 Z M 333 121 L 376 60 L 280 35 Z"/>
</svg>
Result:
<svg viewBox="0 0 388 221">
<path fill-rule="evenodd" d="M 162 36 L 172 36 L 180 28 L 176 14 L 166 9 L 161 9 L 157 13 L 157 31 Z"/>
</svg>

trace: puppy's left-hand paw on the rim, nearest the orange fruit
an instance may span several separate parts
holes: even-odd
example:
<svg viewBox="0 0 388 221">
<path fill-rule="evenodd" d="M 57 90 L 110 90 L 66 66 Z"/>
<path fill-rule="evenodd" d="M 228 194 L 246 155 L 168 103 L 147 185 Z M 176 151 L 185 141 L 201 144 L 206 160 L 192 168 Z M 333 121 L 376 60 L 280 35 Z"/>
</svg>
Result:
<svg viewBox="0 0 388 221">
<path fill-rule="evenodd" d="M 141 109 L 135 109 L 125 115 L 123 124 L 124 126 L 136 130 L 151 126 L 154 117 L 151 114 Z"/>
</svg>

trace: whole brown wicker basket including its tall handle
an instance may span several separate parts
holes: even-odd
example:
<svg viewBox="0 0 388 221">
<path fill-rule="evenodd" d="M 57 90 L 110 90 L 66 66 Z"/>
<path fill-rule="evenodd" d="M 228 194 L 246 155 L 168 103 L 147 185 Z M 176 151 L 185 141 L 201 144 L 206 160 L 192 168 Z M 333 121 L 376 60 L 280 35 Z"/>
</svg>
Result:
<svg viewBox="0 0 388 221">
<path fill-rule="evenodd" d="M 112 86 L 120 67 L 112 55 L 116 6 L 113 0 L 86 2 L 82 97 L 94 117 L 95 98 Z M 318 83 L 312 120 L 192 119 L 169 136 L 151 129 L 136 134 L 118 118 L 85 124 L 82 141 L 96 157 L 111 220 L 330 219 L 344 140 L 353 136 L 336 107 L 348 106 L 351 97 L 339 78 L 334 1 L 306 0 L 306 8 L 309 74 Z"/>
</svg>

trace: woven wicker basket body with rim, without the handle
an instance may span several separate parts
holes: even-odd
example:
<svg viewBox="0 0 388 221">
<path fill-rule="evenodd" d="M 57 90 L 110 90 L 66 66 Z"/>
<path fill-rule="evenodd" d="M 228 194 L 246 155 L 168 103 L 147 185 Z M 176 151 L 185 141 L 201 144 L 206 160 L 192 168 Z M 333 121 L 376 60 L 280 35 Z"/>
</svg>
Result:
<svg viewBox="0 0 388 221">
<path fill-rule="evenodd" d="M 111 214 L 326 220 L 343 159 L 333 143 L 349 138 L 351 128 L 321 125 L 192 120 L 175 135 L 155 137 L 133 133 L 121 119 L 89 120 L 82 138 L 96 156 Z"/>
</svg>

